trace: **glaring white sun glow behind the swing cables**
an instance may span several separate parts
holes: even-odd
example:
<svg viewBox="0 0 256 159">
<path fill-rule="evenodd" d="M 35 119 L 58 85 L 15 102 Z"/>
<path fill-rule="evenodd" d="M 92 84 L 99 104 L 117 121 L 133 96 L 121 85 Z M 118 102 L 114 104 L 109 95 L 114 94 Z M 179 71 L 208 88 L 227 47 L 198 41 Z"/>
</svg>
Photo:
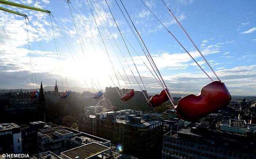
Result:
<svg viewBox="0 0 256 159">
<path fill-rule="evenodd" d="M 63 67 L 63 74 L 69 78 L 91 83 L 108 86 L 111 84 L 110 75 L 113 75 L 112 63 L 102 52 L 87 51 L 90 53 L 77 54 L 74 59 L 65 58 L 66 66 Z M 63 75 L 63 76 L 64 76 Z M 92 81 L 91 81 L 92 80 Z M 84 83 L 85 86 L 85 83 Z"/>
</svg>

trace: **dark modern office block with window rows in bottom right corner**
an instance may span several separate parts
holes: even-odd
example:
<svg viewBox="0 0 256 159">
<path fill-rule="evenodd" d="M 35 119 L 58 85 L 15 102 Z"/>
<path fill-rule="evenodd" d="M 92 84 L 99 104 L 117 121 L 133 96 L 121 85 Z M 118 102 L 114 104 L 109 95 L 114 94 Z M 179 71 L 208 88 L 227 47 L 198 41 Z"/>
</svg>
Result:
<svg viewBox="0 0 256 159">
<path fill-rule="evenodd" d="M 256 134 L 237 134 L 196 126 L 163 136 L 162 159 L 255 159 Z"/>
</svg>

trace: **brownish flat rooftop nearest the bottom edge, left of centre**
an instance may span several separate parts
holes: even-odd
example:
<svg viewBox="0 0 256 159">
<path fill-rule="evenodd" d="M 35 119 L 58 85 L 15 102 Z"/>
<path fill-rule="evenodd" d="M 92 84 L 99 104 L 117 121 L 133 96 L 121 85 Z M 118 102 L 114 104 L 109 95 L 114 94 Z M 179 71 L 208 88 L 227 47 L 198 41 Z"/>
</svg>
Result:
<svg viewBox="0 0 256 159">
<path fill-rule="evenodd" d="M 75 158 L 79 156 L 79 159 L 86 159 L 91 156 L 100 154 L 103 151 L 110 150 L 110 147 L 103 146 L 97 143 L 90 143 L 81 147 L 77 147 L 65 152 L 61 152 L 61 154 L 68 156 L 69 158 Z"/>
</svg>

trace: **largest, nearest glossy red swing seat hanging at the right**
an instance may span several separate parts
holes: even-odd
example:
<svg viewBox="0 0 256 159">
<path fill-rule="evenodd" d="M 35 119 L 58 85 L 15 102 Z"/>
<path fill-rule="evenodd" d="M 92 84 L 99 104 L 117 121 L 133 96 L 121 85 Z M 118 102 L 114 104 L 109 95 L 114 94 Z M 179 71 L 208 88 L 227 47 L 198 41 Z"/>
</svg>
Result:
<svg viewBox="0 0 256 159">
<path fill-rule="evenodd" d="M 175 110 L 178 116 L 194 122 L 229 105 L 231 95 L 224 83 L 214 81 L 201 89 L 200 94 L 189 94 L 178 101 Z"/>
</svg>

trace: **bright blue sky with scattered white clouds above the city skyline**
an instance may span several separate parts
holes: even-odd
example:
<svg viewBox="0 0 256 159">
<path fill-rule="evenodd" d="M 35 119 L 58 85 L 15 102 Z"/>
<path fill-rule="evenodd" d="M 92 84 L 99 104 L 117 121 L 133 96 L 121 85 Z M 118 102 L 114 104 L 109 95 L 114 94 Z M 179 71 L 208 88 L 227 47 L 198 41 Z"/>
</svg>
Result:
<svg viewBox="0 0 256 159">
<path fill-rule="evenodd" d="M 0 11 L 0 89 L 37 90 L 57 80 L 60 91 L 158 93 L 164 82 L 171 93 L 199 94 L 219 79 L 231 96 L 256 95 L 256 1 L 15 2 L 51 14 L 0 4 L 27 15 Z"/>
</svg>

